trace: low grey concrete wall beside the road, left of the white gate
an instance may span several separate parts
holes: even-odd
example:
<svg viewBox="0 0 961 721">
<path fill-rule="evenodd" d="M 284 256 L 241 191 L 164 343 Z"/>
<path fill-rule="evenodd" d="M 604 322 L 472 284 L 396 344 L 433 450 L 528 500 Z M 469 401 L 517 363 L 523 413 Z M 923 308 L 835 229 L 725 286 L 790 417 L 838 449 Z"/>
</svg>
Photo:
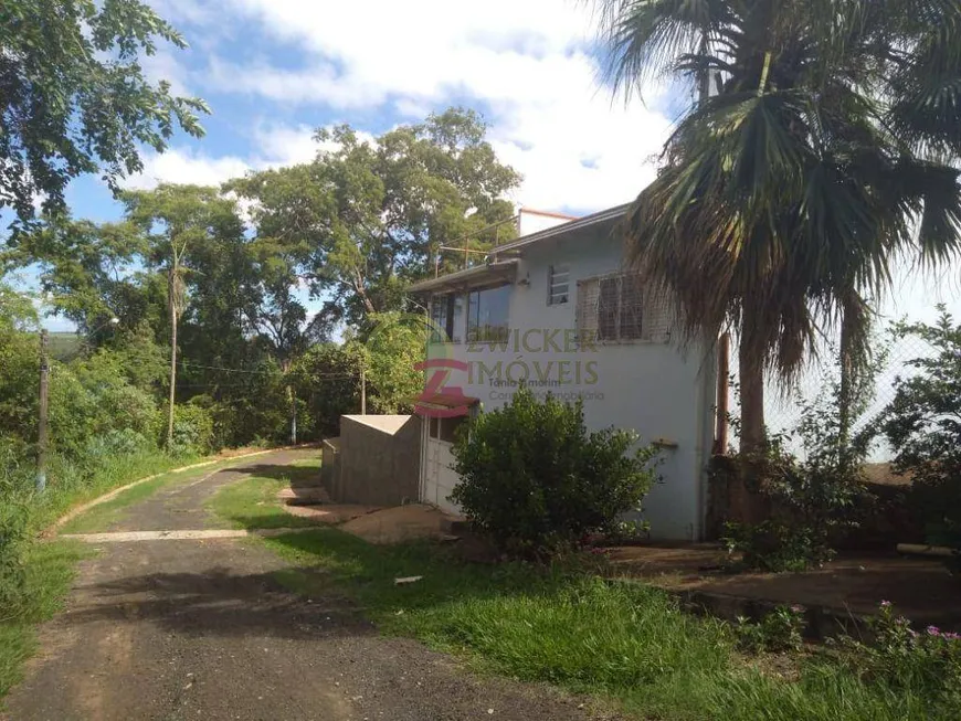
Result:
<svg viewBox="0 0 961 721">
<path fill-rule="evenodd" d="M 400 506 L 418 500 L 421 420 L 413 415 L 340 416 L 339 478 L 334 500 Z"/>
</svg>

